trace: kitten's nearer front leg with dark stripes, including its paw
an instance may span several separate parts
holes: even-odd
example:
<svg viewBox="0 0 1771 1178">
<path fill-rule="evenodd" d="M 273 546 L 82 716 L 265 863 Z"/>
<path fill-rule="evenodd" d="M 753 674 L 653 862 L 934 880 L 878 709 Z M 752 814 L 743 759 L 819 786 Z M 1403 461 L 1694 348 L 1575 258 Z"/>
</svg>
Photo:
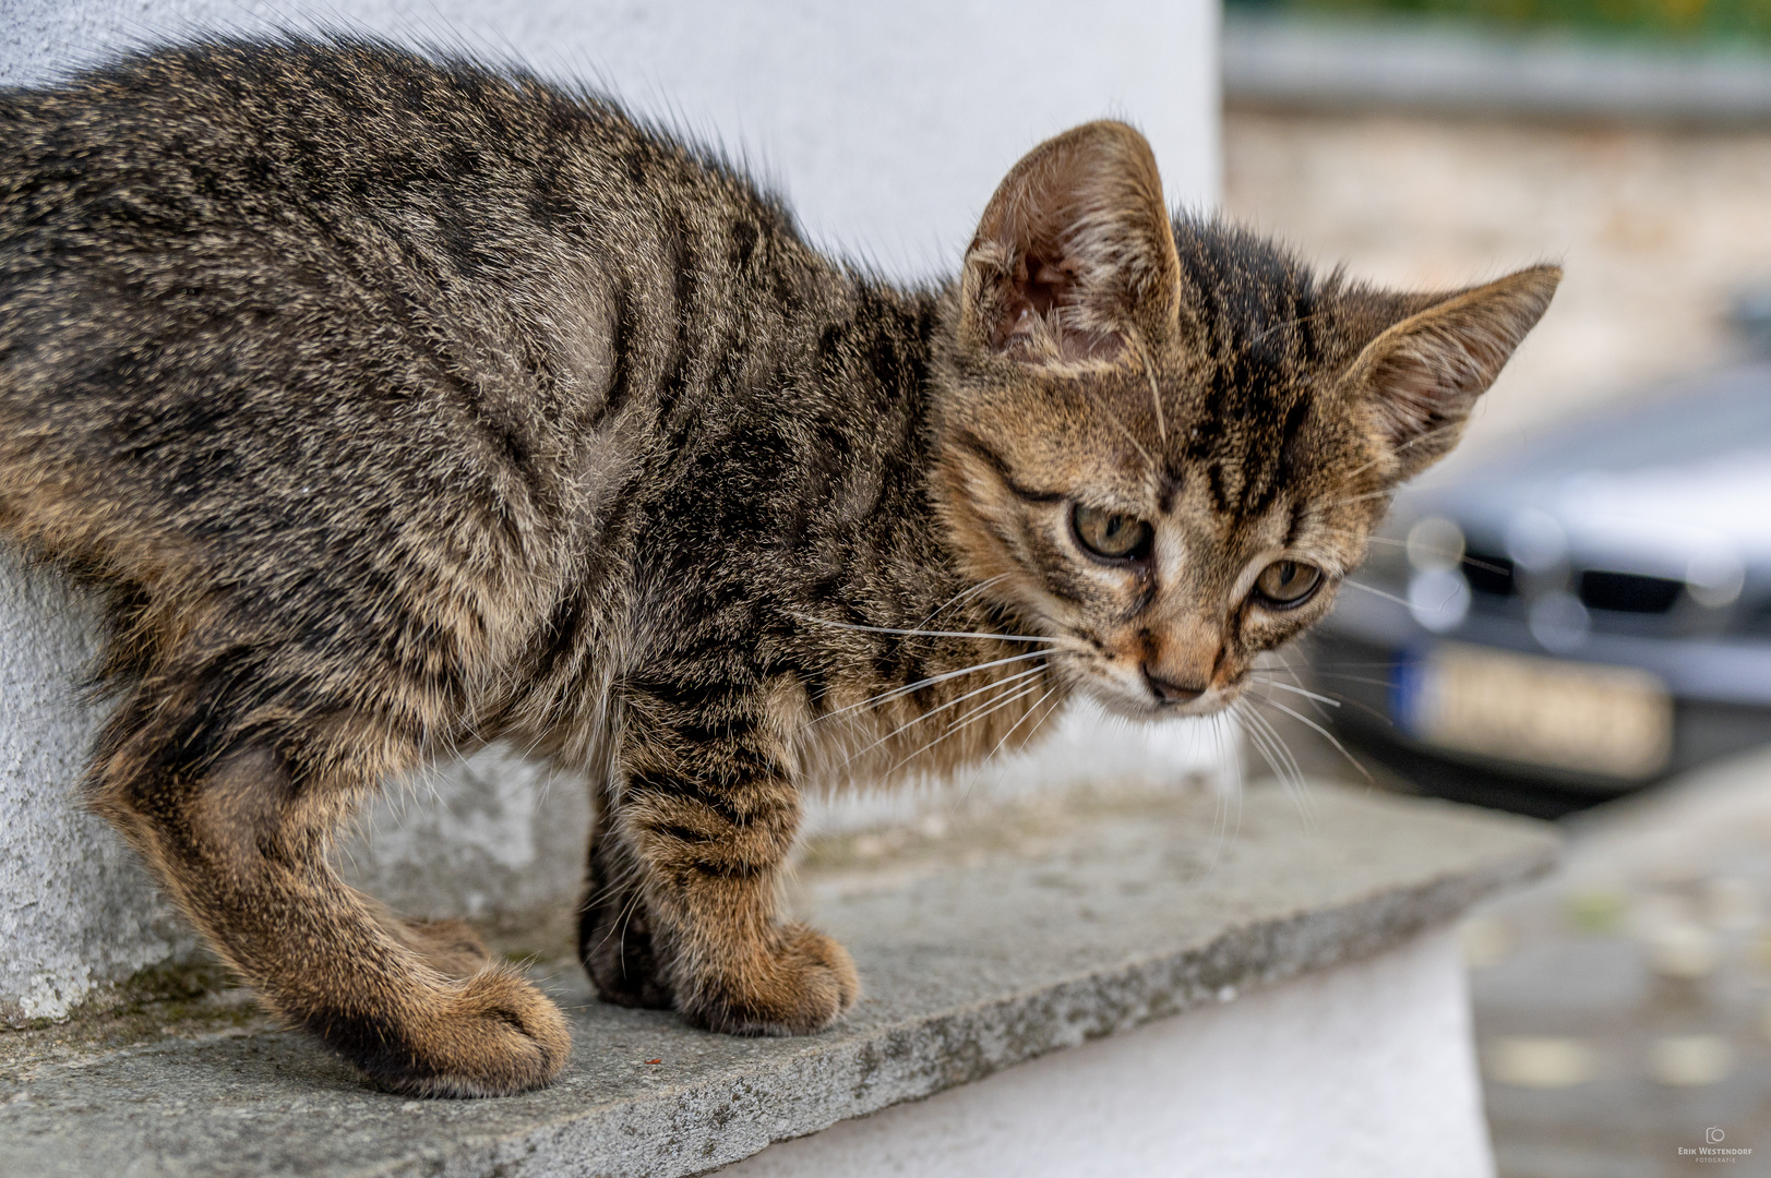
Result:
<svg viewBox="0 0 1771 1178">
<path fill-rule="evenodd" d="M 634 864 L 652 965 L 684 1019 L 735 1035 L 806 1035 L 847 1011 L 861 994 L 848 951 L 776 914 L 799 825 L 781 742 L 728 714 L 694 739 L 630 742 L 622 760 L 602 834 L 620 850 L 602 856 Z M 611 988 L 607 957 L 586 965 Z"/>
</svg>

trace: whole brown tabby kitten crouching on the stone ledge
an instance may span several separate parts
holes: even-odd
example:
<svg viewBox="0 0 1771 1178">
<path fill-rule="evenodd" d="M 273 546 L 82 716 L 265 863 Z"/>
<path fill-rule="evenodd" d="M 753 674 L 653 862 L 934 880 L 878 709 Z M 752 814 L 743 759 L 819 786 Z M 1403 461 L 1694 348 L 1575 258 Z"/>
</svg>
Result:
<svg viewBox="0 0 1771 1178">
<path fill-rule="evenodd" d="M 0 92 L 0 533 L 103 593 L 90 804 L 239 978 L 375 1086 L 517 1093 L 558 1008 L 328 863 L 383 781 L 588 776 L 599 994 L 825 1027 L 861 983 L 776 909 L 800 788 L 1077 691 L 1224 709 L 1558 278 L 1316 276 L 1091 122 L 893 285 L 602 97 L 197 41 Z"/>
</svg>

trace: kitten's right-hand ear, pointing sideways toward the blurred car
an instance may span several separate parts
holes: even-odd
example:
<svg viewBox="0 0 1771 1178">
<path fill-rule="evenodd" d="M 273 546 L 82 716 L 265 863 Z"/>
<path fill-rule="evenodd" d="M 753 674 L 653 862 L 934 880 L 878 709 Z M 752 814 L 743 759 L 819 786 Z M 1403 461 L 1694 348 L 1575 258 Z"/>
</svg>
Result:
<svg viewBox="0 0 1771 1178">
<path fill-rule="evenodd" d="M 1543 317 L 1558 282 L 1560 266 L 1532 266 L 1431 301 L 1365 345 L 1346 379 L 1396 455 L 1397 480 L 1458 445 L 1475 399 Z"/>
</svg>

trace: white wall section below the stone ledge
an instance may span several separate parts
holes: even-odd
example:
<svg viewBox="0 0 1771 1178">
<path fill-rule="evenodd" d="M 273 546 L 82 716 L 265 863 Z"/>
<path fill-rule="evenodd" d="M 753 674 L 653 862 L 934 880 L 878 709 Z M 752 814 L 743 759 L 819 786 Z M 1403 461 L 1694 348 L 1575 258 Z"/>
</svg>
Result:
<svg viewBox="0 0 1771 1178">
<path fill-rule="evenodd" d="M 1488 1178 L 1456 939 L 769 1146 L 724 1178 Z"/>
</svg>

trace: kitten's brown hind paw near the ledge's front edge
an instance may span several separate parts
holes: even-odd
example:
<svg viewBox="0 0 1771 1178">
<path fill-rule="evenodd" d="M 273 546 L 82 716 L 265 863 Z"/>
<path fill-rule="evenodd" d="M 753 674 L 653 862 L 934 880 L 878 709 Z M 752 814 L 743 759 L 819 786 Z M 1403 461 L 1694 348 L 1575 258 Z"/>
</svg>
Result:
<svg viewBox="0 0 1771 1178">
<path fill-rule="evenodd" d="M 379 1088 L 413 1097 L 508 1097 L 542 1088 L 572 1049 L 565 1015 L 530 981 L 483 969 L 398 1022 L 313 1026 Z"/>
</svg>

